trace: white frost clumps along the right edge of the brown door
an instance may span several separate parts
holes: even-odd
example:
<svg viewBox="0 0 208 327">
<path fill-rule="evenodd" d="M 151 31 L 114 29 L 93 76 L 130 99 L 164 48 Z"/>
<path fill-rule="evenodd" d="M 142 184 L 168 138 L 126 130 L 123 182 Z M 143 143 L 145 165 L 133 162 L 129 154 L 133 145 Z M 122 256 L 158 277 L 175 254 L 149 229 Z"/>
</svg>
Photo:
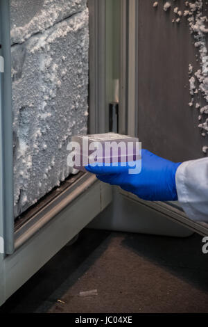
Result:
<svg viewBox="0 0 208 327">
<path fill-rule="evenodd" d="M 165 11 L 171 7 L 171 3 L 169 3 L 169 6 L 166 6 L 167 3 L 169 2 L 164 3 Z M 205 15 L 206 8 L 203 8 L 203 6 L 207 6 L 208 3 L 202 0 L 185 1 L 186 10 L 182 10 L 179 5 L 180 1 L 177 1 L 177 6 L 172 6 L 173 17 L 171 19 L 172 22 L 180 22 L 181 19 L 187 19 L 190 33 L 193 35 L 193 44 L 198 50 L 196 62 L 200 63 L 200 69 L 194 72 L 193 63 L 190 63 L 188 67 L 189 92 L 191 95 L 189 106 L 193 107 L 193 103 L 196 101 L 195 108 L 200 111 L 198 119 L 202 120 L 198 127 L 201 130 L 202 136 L 205 137 L 208 134 L 208 19 Z M 202 103 L 199 103 L 199 99 L 202 99 Z M 203 147 L 202 151 L 207 153 L 207 147 Z"/>
</svg>

